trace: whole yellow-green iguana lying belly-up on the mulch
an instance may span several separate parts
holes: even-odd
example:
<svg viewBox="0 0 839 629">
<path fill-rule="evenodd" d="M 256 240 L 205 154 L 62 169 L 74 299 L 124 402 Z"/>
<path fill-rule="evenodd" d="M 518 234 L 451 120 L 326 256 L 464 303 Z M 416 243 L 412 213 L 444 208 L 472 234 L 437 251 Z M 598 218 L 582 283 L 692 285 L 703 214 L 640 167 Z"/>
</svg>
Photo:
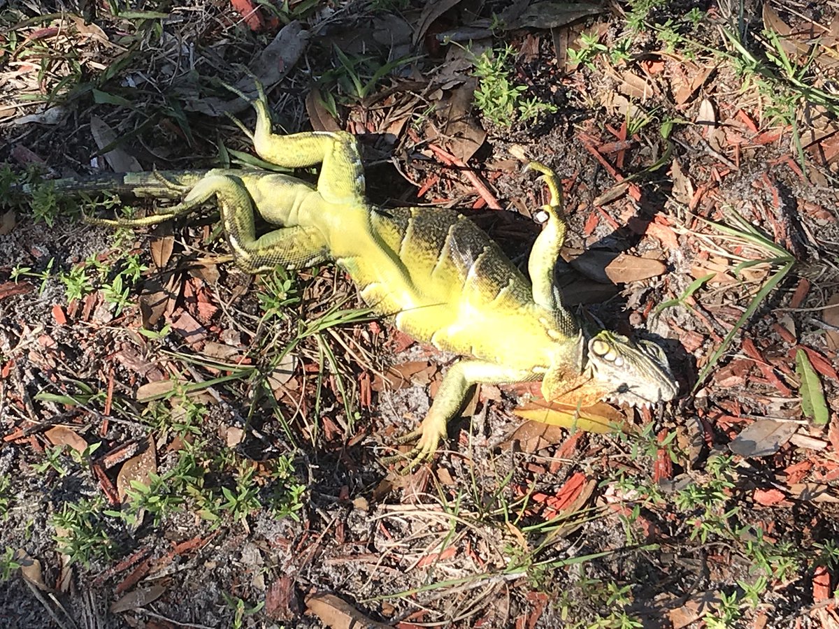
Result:
<svg viewBox="0 0 839 629">
<path fill-rule="evenodd" d="M 581 328 L 561 302 L 554 266 L 565 239 L 561 191 L 555 174 L 533 162 L 550 190 L 548 216 L 534 242 L 530 279 L 487 234 L 456 211 L 385 209 L 365 197 L 356 139 L 344 132 L 272 133 L 262 90 L 253 100 L 253 140 L 262 159 L 285 168 L 321 164 L 317 185 L 263 170 L 216 169 L 199 177 L 126 174 L 117 191 L 165 190 L 180 204 L 136 220 L 150 225 L 193 211 L 216 197 L 232 257 L 242 270 L 260 273 L 281 265 L 305 268 L 331 260 L 357 284 L 362 299 L 399 330 L 462 358 L 452 364 L 419 429 L 410 465 L 435 453 L 446 424 L 477 382 L 541 381 L 549 401 L 581 407 L 602 398 L 653 404 L 675 397 L 677 385 L 664 352 L 652 342 L 633 342 L 608 330 Z M 80 186 L 81 187 L 81 186 Z M 84 186 L 90 189 L 90 182 Z M 254 214 L 272 226 L 257 236 Z"/>
</svg>

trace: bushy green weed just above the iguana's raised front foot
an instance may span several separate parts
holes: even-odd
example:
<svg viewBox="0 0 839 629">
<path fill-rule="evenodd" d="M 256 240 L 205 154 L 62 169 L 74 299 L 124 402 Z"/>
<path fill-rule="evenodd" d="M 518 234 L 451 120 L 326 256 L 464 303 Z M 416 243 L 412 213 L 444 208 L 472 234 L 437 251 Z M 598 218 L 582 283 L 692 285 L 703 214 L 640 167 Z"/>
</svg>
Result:
<svg viewBox="0 0 839 629">
<path fill-rule="evenodd" d="M 475 107 L 489 120 L 501 127 L 509 127 L 516 119 L 528 120 L 540 113 L 556 112 L 550 103 L 537 98 L 524 99 L 526 86 L 513 84 L 513 60 L 516 50 L 507 44 L 503 48 L 486 50 L 473 61 L 479 85 L 475 91 Z"/>
</svg>

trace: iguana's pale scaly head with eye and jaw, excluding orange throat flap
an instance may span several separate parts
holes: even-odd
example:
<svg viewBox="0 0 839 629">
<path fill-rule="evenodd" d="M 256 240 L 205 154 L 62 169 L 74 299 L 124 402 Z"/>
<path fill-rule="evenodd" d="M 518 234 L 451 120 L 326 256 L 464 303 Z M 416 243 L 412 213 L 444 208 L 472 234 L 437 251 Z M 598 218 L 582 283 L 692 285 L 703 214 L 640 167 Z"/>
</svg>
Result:
<svg viewBox="0 0 839 629">
<path fill-rule="evenodd" d="M 631 406 L 667 402 L 679 392 L 664 351 L 649 340 L 637 343 L 603 330 L 588 341 L 583 373 L 603 398 Z"/>
</svg>

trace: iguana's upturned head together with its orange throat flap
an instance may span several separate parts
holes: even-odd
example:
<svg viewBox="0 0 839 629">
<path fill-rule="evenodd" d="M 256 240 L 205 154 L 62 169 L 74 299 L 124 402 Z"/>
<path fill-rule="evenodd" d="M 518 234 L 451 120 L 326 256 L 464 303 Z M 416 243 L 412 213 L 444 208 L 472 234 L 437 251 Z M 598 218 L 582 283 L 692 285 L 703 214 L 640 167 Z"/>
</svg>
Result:
<svg viewBox="0 0 839 629">
<path fill-rule="evenodd" d="M 551 402 L 591 406 L 600 400 L 649 406 L 675 398 L 679 386 L 664 351 L 649 340 L 629 340 L 602 330 L 586 342 L 582 333 L 571 364 L 577 376 L 551 369 L 542 380 L 542 394 Z M 567 356 L 567 355 L 566 355 Z"/>
</svg>

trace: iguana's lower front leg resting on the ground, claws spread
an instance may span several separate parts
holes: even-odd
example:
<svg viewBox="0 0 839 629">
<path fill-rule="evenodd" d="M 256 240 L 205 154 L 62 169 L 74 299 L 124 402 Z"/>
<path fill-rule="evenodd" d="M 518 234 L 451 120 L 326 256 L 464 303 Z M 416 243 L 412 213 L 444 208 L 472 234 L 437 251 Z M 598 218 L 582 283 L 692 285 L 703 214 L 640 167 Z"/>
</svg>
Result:
<svg viewBox="0 0 839 629">
<path fill-rule="evenodd" d="M 408 443 L 417 439 L 414 449 L 405 455 L 384 457 L 382 463 L 388 465 L 399 460 L 408 460 L 406 470 L 429 460 L 437 451 L 440 439 L 446 437 L 446 427 L 451 418 L 461 410 L 466 402 L 469 389 L 478 382 L 501 384 L 503 382 L 525 382 L 534 379 L 534 374 L 510 369 L 493 362 L 461 360 L 449 367 L 440 389 L 431 404 L 428 414 L 422 420 L 420 428 L 397 439 L 398 443 Z"/>
</svg>

